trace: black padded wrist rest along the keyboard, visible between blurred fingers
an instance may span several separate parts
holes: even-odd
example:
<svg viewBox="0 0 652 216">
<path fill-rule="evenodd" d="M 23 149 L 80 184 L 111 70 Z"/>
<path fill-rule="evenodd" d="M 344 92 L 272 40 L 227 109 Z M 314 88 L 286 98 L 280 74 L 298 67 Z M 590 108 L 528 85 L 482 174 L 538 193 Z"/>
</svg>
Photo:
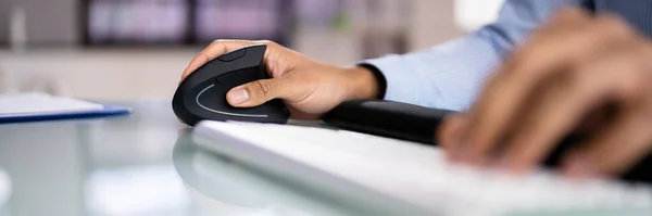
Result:
<svg viewBox="0 0 652 216">
<path fill-rule="evenodd" d="M 342 129 L 437 145 L 435 136 L 439 126 L 454 113 L 393 101 L 356 100 L 343 102 L 323 119 Z M 559 166 L 564 153 L 585 139 L 586 136 L 580 134 L 568 135 L 547 157 L 544 165 Z M 624 174 L 622 179 L 652 182 L 652 154 Z"/>
</svg>

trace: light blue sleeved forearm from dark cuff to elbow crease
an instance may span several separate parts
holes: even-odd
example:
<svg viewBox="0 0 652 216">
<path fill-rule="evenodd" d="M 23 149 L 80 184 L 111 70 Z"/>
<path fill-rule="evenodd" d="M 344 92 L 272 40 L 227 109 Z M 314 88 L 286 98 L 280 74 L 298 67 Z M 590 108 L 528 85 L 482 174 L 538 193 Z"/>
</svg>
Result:
<svg viewBox="0 0 652 216">
<path fill-rule="evenodd" d="M 405 55 L 368 60 L 387 80 L 384 99 L 429 107 L 464 110 L 500 54 L 477 36 Z"/>
</svg>

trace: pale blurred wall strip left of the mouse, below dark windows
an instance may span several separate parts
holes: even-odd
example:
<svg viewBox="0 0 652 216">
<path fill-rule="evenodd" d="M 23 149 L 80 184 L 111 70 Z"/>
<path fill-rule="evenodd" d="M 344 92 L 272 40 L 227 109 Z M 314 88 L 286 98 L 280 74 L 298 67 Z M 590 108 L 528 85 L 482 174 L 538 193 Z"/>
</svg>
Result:
<svg viewBox="0 0 652 216">
<path fill-rule="evenodd" d="M 0 86 L 99 100 L 171 98 L 198 50 L 4 52 Z"/>
</svg>

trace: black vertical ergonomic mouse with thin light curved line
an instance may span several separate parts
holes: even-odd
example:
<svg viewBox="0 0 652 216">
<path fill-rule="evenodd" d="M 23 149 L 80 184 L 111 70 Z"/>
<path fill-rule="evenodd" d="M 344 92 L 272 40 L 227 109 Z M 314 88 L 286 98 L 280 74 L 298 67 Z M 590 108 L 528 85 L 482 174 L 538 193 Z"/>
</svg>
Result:
<svg viewBox="0 0 652 216">
<path fill-rule="evenodd" d="M 226 92 L 234 87 L 271 78 L 263 61 L 266 50 L 265 45 L 246 47 L 199 67 L 174 94 L 172 109 L 176 116 L 190 126 L 204 119 L 287 123 L 289 112 L 280 100 L 256 107 L 234 107 L 226 101 Z"/>
</svg>

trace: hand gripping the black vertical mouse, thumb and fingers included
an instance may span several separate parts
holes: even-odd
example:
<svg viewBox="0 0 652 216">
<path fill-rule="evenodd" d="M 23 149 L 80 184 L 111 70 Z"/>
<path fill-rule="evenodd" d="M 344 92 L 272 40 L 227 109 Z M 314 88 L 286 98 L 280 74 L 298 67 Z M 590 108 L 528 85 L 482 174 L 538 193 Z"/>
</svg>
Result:
<svg viewBox="0 0 652 216">
<path fill-rule="evenodd" d="M 314 119 L 343 101 L 378 97 L 376 78 L 369 71 L 319 63 L 271 41 L 216 40 L 190 62 L 181 79 L 224 53 L 261 43 L 267 45 L 264 61 L 273 78 L 231 89 L 227 101 L 234 106 L 283 99 L 292 118 Z"/>
</svg>

